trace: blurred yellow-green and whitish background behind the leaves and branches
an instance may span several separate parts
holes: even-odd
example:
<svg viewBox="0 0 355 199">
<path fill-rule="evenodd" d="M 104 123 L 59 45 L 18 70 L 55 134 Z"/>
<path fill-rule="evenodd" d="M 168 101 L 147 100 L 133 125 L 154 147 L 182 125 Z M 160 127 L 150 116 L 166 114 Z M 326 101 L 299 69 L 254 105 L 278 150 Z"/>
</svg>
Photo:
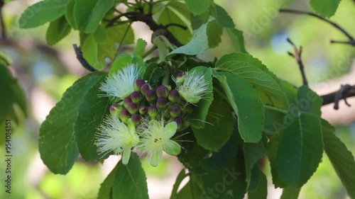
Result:
<svg viewBox="0 0 355 199">
<path fill-rule="evenodd" d="M 66 176 L 51 174 L 38 154 L 38 129 L 56 101 L 67 87 L 86 72 L 75 58 L 73 43 L 79 42 L 77 32 L 53 47 L 45 44 L 45 31 L 48 25 L 40 28 L 21 30 L 18 18 L 23 10 L 37 1 L 11 1 L 3 9 L 7 39 L 1 40 L 1 50 L 7 52 L 13 64 L 11 72 L 18 78 L 28 101 L 28 118 L 24 115 L 13 123 L 13 186 L 10 198 L 95 198 L 99 182 L 109 173 L 110 167 L 78 161 Z M 346 40 L 342 33 L 329 24 L 310 16 L 298 16 L 279 13 L 279 8 L 293 8 L 312 11 L 309 1 L 280 0 L 214 0 L 229 12 L 236 28 L 244 31 L 246 49 L 258 57 L 280 79 L 300 86 L 301 76 L 295 60 L 287 55 L 292 50 L 286 38 L 302 45 L 306 74 L 311 84 L 329 81 L 346 74 L 354 59 L 354 47 L 331 44 L 329 40 Z M 352 0 L 343 0 L 337 13 L 330 18 L 342 25 L 349 33 L 355 33 L 355 4 Z M 144 38 L 150 42 L 151 30 L 143 23 L 136 23 L 136 39 Z M 132 47 L 126 47 L 130 50 Z M 233 52 L 226 33 L 222 43 L 209 50 L 202 57 L 220 57 Z M 1 98 L 6 98 L 2 93 Z M 346 109 L 346 107 L 343 107 Z M 342 110 L 339 110 L 342 111 Z M 334 124 L 337 125 L 337 124 Z M 1 128 L 4 129 L 4 128 Z M 355 154 L 355 123 L 338 126 L 337 135 Z M 1 136 L 1 139 L 4 139 Z M 4 146 L 0 154 L 4 157 Z M 114 164 L 115 158 L 108 164 Z M 1 163 L 1 181 L 4 182 L 4 164 Z M 152 199 L 167 198 L 162 190 L 170 194 L 174 179 L 182 168 L 176 159 L 165 159 L 157 168 L 148 166 L 146 159 L 143 167 L 148 174 L 148 189 Z M 112 168 L 112 167 L 111 167 Z M 280 191 L 273 190 L 270 169 L 268 174 L 269 198 L 279 198 Z M 158 183 L 160 182 L 160 183 Z M 165 186 L 162 187 L 163 183 Z M 167 187 L 167 188 L 165 188 Z M 169 189 L 170 188 L 170 189 Z M 155 194 L 158 189 L 160 195 Z M 167 189 L 167 190 L 165 190 Z M 9 198 L 1 188 L 0 198 Z M 334 169 L 324 154 L 322 164 L 310 181 L 302 188 L 300 198 L 346 198 L 346 193 Z"/>
</svg>

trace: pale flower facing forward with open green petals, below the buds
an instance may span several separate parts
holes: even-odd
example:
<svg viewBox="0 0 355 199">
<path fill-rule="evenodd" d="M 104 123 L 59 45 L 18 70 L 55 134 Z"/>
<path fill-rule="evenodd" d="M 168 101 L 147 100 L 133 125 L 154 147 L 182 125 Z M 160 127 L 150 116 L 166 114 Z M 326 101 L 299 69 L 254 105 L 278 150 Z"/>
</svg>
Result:
<svg viewBox="0 0 355 199">
<path fill-rule="evenodd" d="M 170 140 L 178 129 L 175 122 L 164 125 L 163 119 L 158 121 L 145 118 L 139 128 L 141 130 L 141 142 L 137 148 L 148 153 L 151 166 L 158 166 L 163 151 L 170 155 L 180 154 L 180 145 Z"/>
</svg>

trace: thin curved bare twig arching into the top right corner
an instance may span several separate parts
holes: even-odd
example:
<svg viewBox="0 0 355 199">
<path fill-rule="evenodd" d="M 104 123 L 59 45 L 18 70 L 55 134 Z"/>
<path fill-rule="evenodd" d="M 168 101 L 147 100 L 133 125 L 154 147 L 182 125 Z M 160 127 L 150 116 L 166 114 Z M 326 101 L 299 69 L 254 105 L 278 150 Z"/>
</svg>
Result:
<svg viewBox="0 0 355 199">
<path fill-rule="evenodd" d="M 306 12 L 306 11 L 296 11 L 296 10 L 292 10 L 292 9 L 280 9 L 281 13 L 295 13 L 295 14 L 306 14 L 309 16 L 314 16 L 316 18 L 319 18 L 322 21 L 325 21 L 331 25 L 333 25 L 335 28 L 337 28 L 340 32 L 342 32 L 344 35 L 346 35 L 347 38 L 349 38 L 349 41 L 335 41 L 335 40 L 331 40 L 330 42 L 332 43 L 342 43 L 342 44 L 348 44 L 351 46 L 355 46 L 355 40 L 354 38 L 348 33 L 346 32 L 346 30 L 344 30 L 344 28 L 342 28 L 340 25 L 338 25 L 337 23 L 334 23 L 332 21 L 330 21 L 327 18 L 324 18 L 322 16 L 319 16 L 315 13 L 310 13 L 310 12 Z"/>
</svg>

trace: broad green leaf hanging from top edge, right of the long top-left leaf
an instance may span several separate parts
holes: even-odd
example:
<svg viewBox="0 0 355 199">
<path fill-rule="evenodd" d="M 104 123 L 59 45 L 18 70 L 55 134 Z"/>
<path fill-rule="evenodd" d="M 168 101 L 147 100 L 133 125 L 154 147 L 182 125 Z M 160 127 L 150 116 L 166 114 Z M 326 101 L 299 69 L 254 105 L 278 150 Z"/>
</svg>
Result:
<svg viewBox="0 0 355 199">
<path fill-rule="evenodd" d="M 114 0 L 75 0 L 74 17 L 84 33 L 94 33 L 105 13 L 114 6 Z"/>
</svg>

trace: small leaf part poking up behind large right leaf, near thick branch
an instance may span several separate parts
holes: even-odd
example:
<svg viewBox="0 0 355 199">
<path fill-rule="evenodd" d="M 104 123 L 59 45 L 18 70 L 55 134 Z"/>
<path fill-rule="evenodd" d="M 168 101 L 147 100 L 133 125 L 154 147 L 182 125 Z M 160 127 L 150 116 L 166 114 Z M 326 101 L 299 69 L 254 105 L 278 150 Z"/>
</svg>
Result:
<svg viewBox="0 0 355 199">
<path fill-rule="evenodd" d="M 305 113 L 320 116 L 322 107 L 322 98 L 312 91 L 308 86 L 300 86 L 297 91 L 297 105 Z"/>
</svg>

